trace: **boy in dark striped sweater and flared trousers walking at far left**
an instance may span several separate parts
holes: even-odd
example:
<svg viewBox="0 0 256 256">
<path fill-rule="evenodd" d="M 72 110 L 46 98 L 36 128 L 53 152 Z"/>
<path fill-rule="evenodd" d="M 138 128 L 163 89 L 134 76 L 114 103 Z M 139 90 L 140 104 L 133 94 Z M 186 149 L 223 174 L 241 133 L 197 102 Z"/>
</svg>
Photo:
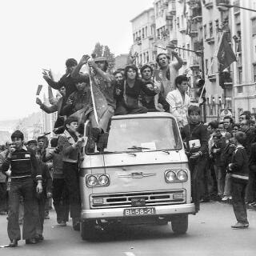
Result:
<svg viewBox="0 0 256 256">
<path fill-rule="evenodd" d="M 14 147 L 10 147 L 2 172 L 11 168 L 11 182 L 9 194 L 8 235 L 10 246 L 18 246 L 21 232 L 18 224 L 18 207 L 20 196 L 24 198 L 24 222 L 22 237 L 26 244 L 35 244 L 36 222 L 38 218 L 35 194 L 42 193 L 42 174 L 35 157 L 34 150 L 24 146 L 24 135 L 20 130 L 11 134 Z M 34 180 L 38 185 L 34 191 Z"/>
</svg>

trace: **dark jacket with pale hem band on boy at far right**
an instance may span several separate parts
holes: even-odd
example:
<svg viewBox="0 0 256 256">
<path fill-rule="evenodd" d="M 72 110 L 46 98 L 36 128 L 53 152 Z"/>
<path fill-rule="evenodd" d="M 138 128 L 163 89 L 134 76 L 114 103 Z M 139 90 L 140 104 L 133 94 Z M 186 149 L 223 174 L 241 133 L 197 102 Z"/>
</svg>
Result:
<svg viewBox="0 0 256 256">
<path fill-rule="evenodd" d="M 246 149 L 243 146 L 237 146 L 231 158 L 229 165 L 231 177 L 235 182 L 247 182 L 249 177 L 249 159 Z"/>
</svg>

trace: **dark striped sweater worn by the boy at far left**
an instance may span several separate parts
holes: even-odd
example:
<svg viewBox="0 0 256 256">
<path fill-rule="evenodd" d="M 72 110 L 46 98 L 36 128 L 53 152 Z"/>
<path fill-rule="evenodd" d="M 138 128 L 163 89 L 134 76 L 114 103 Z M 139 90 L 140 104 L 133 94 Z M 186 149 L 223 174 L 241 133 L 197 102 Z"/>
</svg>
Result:
<svg viewBox="0 0 256 256">
<path fill-rule="evenodd" d="M 42 172 L 38 166 L 38 160 L 35 157 L 34 150 L 23 146 L 21 150 L 15 150 L 11 158 L 6 158 L 2 164 L 2 172 L 5 173 L 11 169 L 11 178 L 22 176 L 32 176 L 37 180 L 42 179 Z"/>
</svg>

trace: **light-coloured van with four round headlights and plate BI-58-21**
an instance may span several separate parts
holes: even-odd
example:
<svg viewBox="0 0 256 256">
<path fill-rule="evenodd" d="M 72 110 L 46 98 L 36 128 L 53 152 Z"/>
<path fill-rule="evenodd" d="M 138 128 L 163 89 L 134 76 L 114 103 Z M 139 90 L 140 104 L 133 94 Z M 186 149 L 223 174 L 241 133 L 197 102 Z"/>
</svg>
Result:
<svg viewBox="0 0 256 256">
<path fill-rule="evenodd" d="M 168 113 L 111 118 L 106 149 L 80 166 L 82 239 L 115 223 L 171 222 L 185 234 L 191 202 L 188 159 L 176 119 Z"/>
</svg>

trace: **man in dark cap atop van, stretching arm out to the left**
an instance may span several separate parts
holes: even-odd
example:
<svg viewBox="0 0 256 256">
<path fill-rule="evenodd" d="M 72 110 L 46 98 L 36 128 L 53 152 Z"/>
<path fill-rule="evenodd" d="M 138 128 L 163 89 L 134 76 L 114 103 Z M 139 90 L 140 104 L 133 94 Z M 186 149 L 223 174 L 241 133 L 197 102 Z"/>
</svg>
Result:
<svg viewBox="0 0 256 256">
<path fill-rule="evenodd" d="M 60 78 L 58 82 L 54 82 L 51 74 L 48 74 L 46 71 L 43 71 L 43 78 L 46 80 L 48 85 L 56 90 L 60 90 L 62 86 L 66 88 L 66 98 L 70 96 L 75 90 L 74 79 L 71 77 L 71 72 L 78 65 L 78 62 L 74 58 L 68 58 L 66 60 L 66 74 Z"/>
</svg>

